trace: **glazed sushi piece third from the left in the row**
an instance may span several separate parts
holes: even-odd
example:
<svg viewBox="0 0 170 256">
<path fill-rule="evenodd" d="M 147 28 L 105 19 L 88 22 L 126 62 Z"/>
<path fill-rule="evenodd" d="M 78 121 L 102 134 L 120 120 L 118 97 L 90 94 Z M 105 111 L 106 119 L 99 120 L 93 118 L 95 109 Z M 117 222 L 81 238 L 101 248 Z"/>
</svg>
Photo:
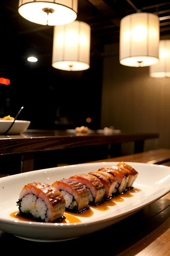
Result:
<svg viewBox="0 0 170 256">
<path fill-rule="evenodd" d="M 103 183 L 101 183 L 96 176 L 90 174 L 79 174 L 70 177 L 70 179 L 76 179 L 85 185 L 89 191 L 89 203 L 97 205 L 102 202 L 106 189 Z"/>
</svg>

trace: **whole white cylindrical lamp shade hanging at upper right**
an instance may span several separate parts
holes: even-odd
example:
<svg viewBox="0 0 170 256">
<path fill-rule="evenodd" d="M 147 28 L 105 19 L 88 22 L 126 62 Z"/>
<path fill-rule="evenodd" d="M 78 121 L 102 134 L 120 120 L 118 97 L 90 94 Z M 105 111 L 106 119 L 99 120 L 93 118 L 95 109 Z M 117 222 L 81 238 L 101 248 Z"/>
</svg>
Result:
<svg viewBox="0 0 170 256">
<path fill-rule="evenodd" d="M 134 13 L 120 24 L 120 54 L 122 65 L 144 67 L 159 60 L 159 17 L 152 13 Z"/>
</svg>

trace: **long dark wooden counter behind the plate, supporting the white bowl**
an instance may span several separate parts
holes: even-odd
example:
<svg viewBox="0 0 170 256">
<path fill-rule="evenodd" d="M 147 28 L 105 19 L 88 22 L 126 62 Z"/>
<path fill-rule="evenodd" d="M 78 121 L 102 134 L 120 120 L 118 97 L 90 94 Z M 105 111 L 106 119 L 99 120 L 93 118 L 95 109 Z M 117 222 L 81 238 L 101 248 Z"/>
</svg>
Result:
<svg viewBox="0 0 170 256">
<path fill-rule="evenodd" d="M 67 133 L 57 130 L 27 130 L 22 135 L 0 135 L 0 154 L 26 153 L 53 149 L 84 147 L 112 143 L 136 142 L 142 147 L 144 140 L 158 138 L 150 133 Z"/>
</svg>

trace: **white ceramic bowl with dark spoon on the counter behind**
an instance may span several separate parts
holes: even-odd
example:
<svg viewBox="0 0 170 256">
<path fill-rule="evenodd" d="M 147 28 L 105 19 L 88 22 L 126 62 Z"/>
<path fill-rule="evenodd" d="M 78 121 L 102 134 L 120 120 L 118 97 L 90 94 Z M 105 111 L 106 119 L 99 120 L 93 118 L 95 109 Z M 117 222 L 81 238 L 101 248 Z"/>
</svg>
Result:
<svg viewBox="0 0 170 256">
<path fill-rule="evenodd" d="M 0 134 L 4 134 L 8 130 L 13 120 L 0 120 Z M 21 134 L 27 130 L 30 125 L 30 121 L 16 120 L 11 127 L 9 134 Z"/>
</svg>

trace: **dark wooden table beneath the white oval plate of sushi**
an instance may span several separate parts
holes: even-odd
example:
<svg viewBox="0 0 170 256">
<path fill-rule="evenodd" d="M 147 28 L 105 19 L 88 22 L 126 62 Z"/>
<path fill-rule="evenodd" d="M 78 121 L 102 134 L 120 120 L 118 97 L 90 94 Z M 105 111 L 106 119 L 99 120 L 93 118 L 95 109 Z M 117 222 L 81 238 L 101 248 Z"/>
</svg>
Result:
<svg viewBox="0 0 170 256">
<path fill-rule="evenodd" d="M 103 161 L 159 163 L 160 159 L 169 162 L 169 158 L 169 149 L 159 149 Z M 0 244 L 7 243 L 9 246 L 13 244 L 15 248 L 30 248 L 30 251 L 34 245 L 43 252 L 47 250 L 55 252 L 58 248 L 63 248 L 63 253 L 70 255 L 99 253 L 99 255 L 117 256 L 170 256 L 170 193 L 119 223 L 84 237 L 49 244 L 50 249 L 47 249 L 47 243 L 30 242 L 0 232 Z"/>
</svg>

